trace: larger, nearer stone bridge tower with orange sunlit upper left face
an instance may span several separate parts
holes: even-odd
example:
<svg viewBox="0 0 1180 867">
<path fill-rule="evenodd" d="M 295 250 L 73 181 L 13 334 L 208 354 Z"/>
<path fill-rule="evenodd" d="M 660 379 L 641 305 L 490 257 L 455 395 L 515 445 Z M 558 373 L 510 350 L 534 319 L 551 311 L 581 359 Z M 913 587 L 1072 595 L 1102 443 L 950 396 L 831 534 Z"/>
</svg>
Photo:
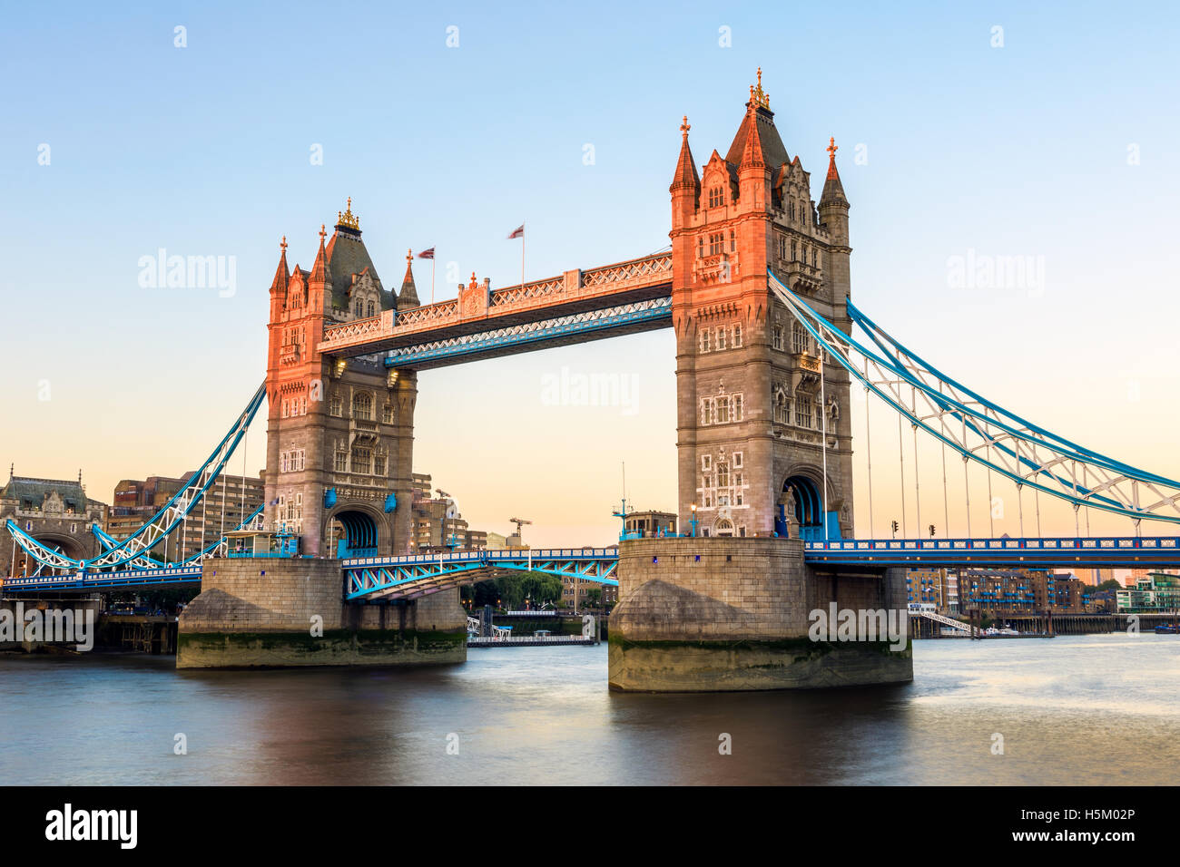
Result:
<svg viewBox="0 0 1180 867">
<path fill-rule="evenodd" d="M 695 504 L 699 536 L 785 536 L 789 523 L 792 537 L 821 539 L 826 511 L 828 534 L 847 537 L 848 374 L 830 359 L 820 382 L 814 341 L 767 268 L 847 329 L 848 202 L 833 140 L 817 208 L 758 78 L 728 152 L 714 150 L 700 176 L 684 118 L 669 188 L 680 521 L 689 527 Z"/>
</svg>

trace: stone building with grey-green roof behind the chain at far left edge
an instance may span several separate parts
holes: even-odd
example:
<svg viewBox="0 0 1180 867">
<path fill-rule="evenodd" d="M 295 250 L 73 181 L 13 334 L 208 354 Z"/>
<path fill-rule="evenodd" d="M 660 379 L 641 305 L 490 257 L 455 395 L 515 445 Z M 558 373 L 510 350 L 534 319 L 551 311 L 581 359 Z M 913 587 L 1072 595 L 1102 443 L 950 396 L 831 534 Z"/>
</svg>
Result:
<svg viewBox="0 0 1180 867">
<path fill-rule="evenodd" d="M 106 504 L 86 495 L 80 472 L 74 481 L 15 475 L 9 468 L 8 484 L 0 488 L 0 525 L 9 518 L 38 541 L 66 557 L 85 559 L 98 556 L 98 540 L 90 528 L 103 526 Z M 38 567 L 12 540 L 0 545 L 2 574 L 31 574 Z"/>
</svg>

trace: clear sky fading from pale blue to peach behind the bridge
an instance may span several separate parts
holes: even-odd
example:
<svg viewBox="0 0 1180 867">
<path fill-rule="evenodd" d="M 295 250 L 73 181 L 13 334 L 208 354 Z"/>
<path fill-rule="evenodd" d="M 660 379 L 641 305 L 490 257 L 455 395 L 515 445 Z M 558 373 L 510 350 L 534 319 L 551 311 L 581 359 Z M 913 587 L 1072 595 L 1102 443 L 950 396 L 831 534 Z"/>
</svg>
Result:
<svg viewBox="0 0 1180 867">
<path fill-rule="evenodd" d="M 1169 4 L 111 6 L 19 5 L 0 25 L 0 460 L 20 475 L 81 469 L 109 503 L 120 479 L 198 466 L 264 375 L 281 236 L 310 267 L 348 196 L 387 287 L 407 248 L 435 247 L 438 300 L 472 271 L 518 282 L 522 222 L 527 280 L 666 247 L 681 117 L 699 164 L 725 153 L 761 66 L 815 199 L 840 146 L 870 316 L 1014 412 L 1180 477 Z M 160 249 L 232 262 L 232 285 L 144 285 Z M 957 282 L 981 257 L 1018 257 L 1027 280 Z M 415 276 L 425 298 L 428 263 Z M 520 515 L 526 541 L 604 544 L 624 464 L 635 507 L 675 508 L 674 366 L 666 330 L 422 372 L 414 471 L 473 527 Z M 582 375 L 620 396 L 552 400 Z M 896 448 L 873 420 L 874 449 Z M 263 440 L 260 414 L 250 472 Z M 936 462 L 920 453 L 925 490 Z M 880 536 L 900 480 L 877 472 Z M 986 480 L 970 484 L 978 531 Z M 1015 534 L 1015 492 L 992 495 Z M 1045 534 L 1073 532 L 1068 506 L 1041 505 Z M 942 512 L 922 506 L 922 524 Z"/>
</svg>

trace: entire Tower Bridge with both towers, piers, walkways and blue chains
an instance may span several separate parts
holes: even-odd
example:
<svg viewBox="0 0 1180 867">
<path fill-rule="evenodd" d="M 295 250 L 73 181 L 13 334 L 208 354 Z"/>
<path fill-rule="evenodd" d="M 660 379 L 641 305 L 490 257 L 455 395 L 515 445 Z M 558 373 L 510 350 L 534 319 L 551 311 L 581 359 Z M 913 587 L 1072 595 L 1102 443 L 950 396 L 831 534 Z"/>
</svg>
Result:
<svg viewBox="0 0 1180 867">
<path fill-rule="evenodd" d="M 372 664 L 464 658 L 457 587 L 490 570 L 577 574 L 620 585 L 614 687 L 766 689 L 911 679 L 909 651 L 806 639 L 808 611 L 830 603 L 904 610 L 906 566 L 1180 565 L 1174 536 L 1140 532 L 1142 520 L 1180 523 L 1180 482 L 984 399 L 853 303 L 838 147 L 830 139 L 817 203 L 811 173 L 775 127 L 761 71 L 725 156 L 714 150 L 699 168 L 690 129 L 686 117 L 668 252 L 504 288 L 473 274 L 455 298 L 421 304 L 412 254 L 400 288 L 386 288 L 350 199 L 330 238 L 320 228 L 310 269 L 288 265 L 284 237 L 269 290 L 266 381 L 214 454 L 140 532 L 100 539 L 91 558 L 54 551 L 9 521 L 15 544 L 47 569 L 6 591 L 199 580 L 178 664 Z M 676 340 L 677 511 L 690 534 L 589 551 L 412 550 L 418 370 L 657 328 Z M 958 539 L 857 539 L 853 387 L 871 399 L 866 426 L 868 402 L 896 415 L 899 431 L 909 425 L 914 461 L 920 434 L 964 472 L 983 467 L 989 495 L 992 479 L 1015 485 L 1020 538 L 995 538 L 990 527 L 974 534 L 969 524 Z M 262 527 L 297 536 L 302 557 L 153 560 L 152 547 L 192 513 L 263 396 Z M 914 485 L 920 510 L 917 473 Z M 1027 493 L 1036 510 L 1028 533 Z M 871 461 L 865 494 L 856 505 L 872 527 Z M 1094 538 L 1076 518 L 1073 537 L 1044 538 L 1042 494 L 1075 515 L 1127 518 L 1134 534 Z M 309 617 L 322 618 L 330 641 L 307 645 Z"/>
</svg>

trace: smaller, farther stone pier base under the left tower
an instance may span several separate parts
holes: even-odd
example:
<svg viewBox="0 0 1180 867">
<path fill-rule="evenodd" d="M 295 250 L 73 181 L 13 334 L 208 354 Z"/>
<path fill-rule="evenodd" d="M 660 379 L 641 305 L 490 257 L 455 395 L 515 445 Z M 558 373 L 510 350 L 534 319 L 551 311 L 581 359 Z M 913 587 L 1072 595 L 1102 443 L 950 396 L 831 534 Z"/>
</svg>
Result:
<svg viewBox="0 0 1180 867">
<path fill-rule="evenodd" d="M 467 658 L 459 591 L 343 602 L 340 560 L 206 560 L 181 613 L 176 666 L 401 665 Z"/>
</svg>

